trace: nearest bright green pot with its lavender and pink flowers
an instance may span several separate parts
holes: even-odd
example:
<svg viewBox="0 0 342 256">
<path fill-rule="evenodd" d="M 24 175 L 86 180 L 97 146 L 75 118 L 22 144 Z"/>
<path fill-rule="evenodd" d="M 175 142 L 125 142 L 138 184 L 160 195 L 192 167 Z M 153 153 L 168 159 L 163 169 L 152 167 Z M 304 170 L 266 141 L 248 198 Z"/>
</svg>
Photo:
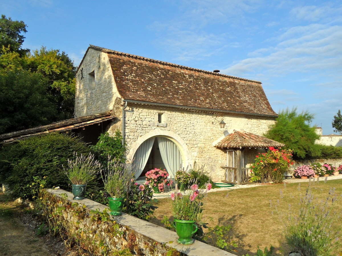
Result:
<svg viewBox="0 0 342 256">
<path fill-rule="evenodd" d="M 193 235 L 197 232 L 196 223 L 201 222 L 203 198 L 211 184 L 208 183 L 204 188 L 198 188 L 197 184 L 193 184 L 191 189 L 182 193 L 171 193 L 172 214 L 174 217 L 173 227 L 176 229 L 179 244 L 194 243 Z"/>
</svg>

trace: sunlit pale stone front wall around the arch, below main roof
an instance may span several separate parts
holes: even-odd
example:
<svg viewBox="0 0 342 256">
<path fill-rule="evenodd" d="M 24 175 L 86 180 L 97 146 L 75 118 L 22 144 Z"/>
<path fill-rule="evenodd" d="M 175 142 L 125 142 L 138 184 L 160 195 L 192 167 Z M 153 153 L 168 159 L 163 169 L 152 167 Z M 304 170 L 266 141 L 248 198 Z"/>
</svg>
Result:
<svg viewBox="0 0 342 256">
<path fill-rule="evenodd" d="M 215 148 L 213 145 L 235 130 L 262 135 L 268 126 L 274 123 L 273 119 L 234 115 L 221 115 L 216 117 L 210 113 L 187 112 L 179 109 L 155 109 L 130 105 L 125 111 L 126 126 L 125 139 L 128 149 L 127 160 L 131 161 L 137 148 L 147 139 L 155 136 L 164 136 L 177 144 L 182 155 L 183 167 L 192 166 L 194 161 L 197 166 L 204 165 L 214 181 L 224 178 L 224 170 L 227 156 L 224 149 Z M 158 122 L 158 114 L 162 114 L 163 122 Z M 216 119 L 215 119 L 216 118 Z M 223 118 L 226 123 L 220 128 L 219 122 Z M 118 126 L 109 129 L 113 134 Z M 257 150 L 252 149 L 252 156 L 245 158 L 254 160 Z"/>
</svg>

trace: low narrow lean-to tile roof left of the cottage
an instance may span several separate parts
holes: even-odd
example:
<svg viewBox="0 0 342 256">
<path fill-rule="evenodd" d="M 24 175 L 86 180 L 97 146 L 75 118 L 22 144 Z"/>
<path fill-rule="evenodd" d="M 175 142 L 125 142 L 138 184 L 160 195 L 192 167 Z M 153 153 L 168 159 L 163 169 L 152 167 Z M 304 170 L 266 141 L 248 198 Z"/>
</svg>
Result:
<svg viewBox="0 0 342 256">
<path fill-rule="evenodd" d="M 111 112 L 100 113 L 91 116 L 82 116 L 71 118 L 60 122 L 55 122 L 49 125 L 38 126 L 26 130 L 14 131 L 10 133 L 0 134 L 0 143 L 11 143 L 18 140 L 37 136 L 49 132 L 68 131 L 82 128 L 85 126 L 98 124 L 107 120 L 116 118 L 111 115 Z"/>
</svg>

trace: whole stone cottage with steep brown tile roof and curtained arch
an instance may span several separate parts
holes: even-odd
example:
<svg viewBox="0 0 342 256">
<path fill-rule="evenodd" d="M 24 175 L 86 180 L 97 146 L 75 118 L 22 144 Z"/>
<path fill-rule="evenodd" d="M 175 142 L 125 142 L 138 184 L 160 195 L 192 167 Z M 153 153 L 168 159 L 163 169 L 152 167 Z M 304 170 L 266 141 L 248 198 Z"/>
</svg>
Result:
<svg viewBox="0 0 342 256">
<path fill-rule="evenodd" d="M 248 167 L 260 148 L 282 145 L 261 137 L 277 114 L 260 82 L 90 45 L 76 73 L 75 118 L 108 111 L 116 118 L 105 131 L 122 132 L 136 178 L 153 168 L 174 177 L 196 161 L 227 180 L 225 167 Z"/>
</svg>

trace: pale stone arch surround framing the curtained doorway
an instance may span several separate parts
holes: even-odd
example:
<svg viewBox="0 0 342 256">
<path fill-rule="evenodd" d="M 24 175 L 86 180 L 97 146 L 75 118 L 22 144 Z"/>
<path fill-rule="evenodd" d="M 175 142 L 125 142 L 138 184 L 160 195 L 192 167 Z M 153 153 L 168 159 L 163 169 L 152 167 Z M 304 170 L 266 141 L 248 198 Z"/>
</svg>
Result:
<svg viewBox="0 0 342 256">
<path fill-rule="evenodd" d="M 177 145 L 177 147 L 179 148 L 179 151 L 184 157 L 183 159 L 184 168 L 193 164 L 192 155 L 189 152 L 185 141 L 173 131 L 165 131 L 165 130 L 160 130 L 160 129 L 156 129 L 156 130 L 153 130 L 144 134 L 143 136 L 138 138 L 136 142 L 132 144 L 129 154 L 127 155 L 128 164 L 130 165 L 132 163 L 135 152 L 144 141 L 148 140 L 149 138 L 158 137 L 158 136 L 166 137 Z"/>
</svg>

